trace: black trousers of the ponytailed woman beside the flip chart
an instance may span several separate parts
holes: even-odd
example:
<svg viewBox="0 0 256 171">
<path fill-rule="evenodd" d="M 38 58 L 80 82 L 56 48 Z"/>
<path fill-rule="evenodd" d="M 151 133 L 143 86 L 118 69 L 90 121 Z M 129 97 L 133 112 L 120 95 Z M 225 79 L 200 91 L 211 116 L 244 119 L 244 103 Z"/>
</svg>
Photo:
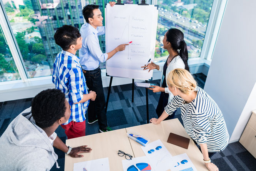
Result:
<svg viewBox="0 0 256 171">
<path fill-rule="evenodd" d="M 158 100 L 158 105 L 156 107 L 156 114 L 158 118 L 162 115 L 163 111 L 165 110 L 165 106 L 168 104 L 169 94 L 165 92 L 161 92 L 160 98 Z M 177 110 L 173 112 L 172 115 L 169 115 L 165 120 L 173 119 Z"/>
</svg>

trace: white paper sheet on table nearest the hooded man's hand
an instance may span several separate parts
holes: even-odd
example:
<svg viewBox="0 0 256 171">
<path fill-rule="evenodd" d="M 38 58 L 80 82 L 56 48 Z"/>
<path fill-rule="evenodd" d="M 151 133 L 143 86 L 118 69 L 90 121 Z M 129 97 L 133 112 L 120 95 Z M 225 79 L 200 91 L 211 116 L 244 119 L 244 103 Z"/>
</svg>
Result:
<svg viewBox="0 0 256 171">
<path fill-rule="evenodd" d="M 73 171 L 110 171 L 108 157 L 90 161 L 74 163 Z"/>
</svg>

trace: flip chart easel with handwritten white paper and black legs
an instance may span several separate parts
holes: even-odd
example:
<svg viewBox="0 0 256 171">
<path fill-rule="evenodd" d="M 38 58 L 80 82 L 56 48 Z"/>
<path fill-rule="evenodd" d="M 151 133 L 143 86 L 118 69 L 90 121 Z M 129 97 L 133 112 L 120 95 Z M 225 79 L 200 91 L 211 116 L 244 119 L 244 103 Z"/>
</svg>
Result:
<svg viewBox="0 0 256 171">
<path fill-rule="evenodd" d="M 134 41 L 124 51 L 116 53 L 106 61 L 106 75 L 111 76 L 108 88 L 105 110 L 107 111 L 113 76 L 132 79 L 132 102 L 134 101 L 134 79 L 152 79 L 153 71 L 143 71 L 140 66 L 145 65 L 151 58 L 154 60 L 156 26 L 158 5 L 148 5 L 142 0 L 143 6 L 128 5 L 117 1 L 116 5 L 123 7 L 106 8 L 106 51 L 113 50 L 116 46 Z M 115 30 L 115 31 L 114 31 Z M 130 39 L 130 40 L 129 40 Z M 122 66 L 120 66 L 122 65 Z M 148 89 L 146 89 L 147 122 L 148 116 Z"/>
</svg>

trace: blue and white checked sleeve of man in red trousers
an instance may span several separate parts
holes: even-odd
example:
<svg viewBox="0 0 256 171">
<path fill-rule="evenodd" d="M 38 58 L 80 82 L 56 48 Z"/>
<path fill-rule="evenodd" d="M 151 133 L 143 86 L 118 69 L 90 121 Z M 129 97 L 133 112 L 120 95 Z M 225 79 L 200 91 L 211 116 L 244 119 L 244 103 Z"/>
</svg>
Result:
<svg viewBox="0 0 256 171">
<path fill-rule="evenodd" d="M 68 77 L 68 98 L 73 103 L 78 103 L 83 99 L 83 92 L 80 91 L 83 86 L 83 75 L 78 72 L 77 68 L 70 70 L 70 76 Z"/>
</svg>

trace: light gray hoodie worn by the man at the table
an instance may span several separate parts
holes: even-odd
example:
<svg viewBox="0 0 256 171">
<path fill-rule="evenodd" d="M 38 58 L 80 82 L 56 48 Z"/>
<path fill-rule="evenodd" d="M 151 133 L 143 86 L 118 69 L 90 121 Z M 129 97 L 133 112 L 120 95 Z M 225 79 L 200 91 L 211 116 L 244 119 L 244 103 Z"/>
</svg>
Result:
<svg viewBox="0 0 256 171">
<path fill-rule="evenodd" d="M 0 170 L 50 170 L 58 156 L 43 129 L 35 124 L 31 107 L 18 115 L 0 137 Z"/>
</svg>

